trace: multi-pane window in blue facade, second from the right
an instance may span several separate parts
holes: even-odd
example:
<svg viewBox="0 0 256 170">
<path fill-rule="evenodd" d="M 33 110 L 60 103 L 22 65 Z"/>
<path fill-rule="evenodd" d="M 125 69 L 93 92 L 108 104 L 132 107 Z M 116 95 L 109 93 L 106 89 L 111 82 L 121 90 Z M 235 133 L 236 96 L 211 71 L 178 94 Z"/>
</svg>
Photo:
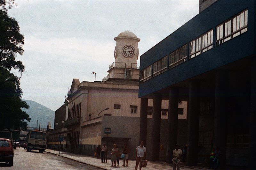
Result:
<svg viewBox="0 0 256 170">
<path fill-rule="evenodd" d="M 213 29 L 189 43 L 189 59 L 212 48 Z"/>
</svg>

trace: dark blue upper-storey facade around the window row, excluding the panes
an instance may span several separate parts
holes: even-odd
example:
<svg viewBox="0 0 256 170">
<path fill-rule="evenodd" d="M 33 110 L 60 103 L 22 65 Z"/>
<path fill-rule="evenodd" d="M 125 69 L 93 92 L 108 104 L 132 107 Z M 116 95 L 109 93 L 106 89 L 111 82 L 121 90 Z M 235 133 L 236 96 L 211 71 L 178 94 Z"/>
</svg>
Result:
<svg viewBox="0 0 256 170">
<path fill-rule="evenodd" d="M 150 65 L 153 65 L 153 63 L 159 59 L 169 55 L 185 44 L 188 44 L 189 49 L 190 41 L 213 29 L 212 49 L 209 49 L 192 59 L 188 59 L 186 62 L 181 63 L 180 65 L 169 69 L 156 77 L 140 83 L 139 97 L 144 97 L 168 86 L 175 85 L 181 81 L 224 66 L 228 63 L 255 55 L 255 4 L 256 0 L 218 0 L 164 40 L 160 41 L 153 48 L 141 55 L 140 71 Z M 216 46 L 216 26 L 245 9 L 248 9 L 247 32 Z M 187 51 L 187 53 L 189 53 L 189 50 Z"/>
</svg>

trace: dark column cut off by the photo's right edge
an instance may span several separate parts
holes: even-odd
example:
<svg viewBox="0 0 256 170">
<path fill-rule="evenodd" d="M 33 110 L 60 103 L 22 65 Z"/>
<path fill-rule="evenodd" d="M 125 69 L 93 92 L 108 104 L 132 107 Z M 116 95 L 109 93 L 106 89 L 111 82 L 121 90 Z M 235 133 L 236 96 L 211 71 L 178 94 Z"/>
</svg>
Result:
<svg viewBox="0 0 256 170">
<path fill-rule="evenodd" d="M 250 104 L 249 169 L 256 169 L 256 58 L 251 65 L 251 104 Z"/>
</svg>

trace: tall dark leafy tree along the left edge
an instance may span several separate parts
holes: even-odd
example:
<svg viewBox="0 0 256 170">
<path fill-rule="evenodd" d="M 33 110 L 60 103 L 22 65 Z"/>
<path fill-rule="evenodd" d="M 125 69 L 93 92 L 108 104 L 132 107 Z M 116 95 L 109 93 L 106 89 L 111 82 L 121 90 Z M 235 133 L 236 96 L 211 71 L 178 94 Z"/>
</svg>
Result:
<svg viewBox="0 0 256 170">
<path fill-rule="evenodd" d="M 0 0 L 0 130 L 27 129 L 29 115 L 21 108 L 29 108 L 21 100 L 20 78 L 25 67 L 16 61 L 17 54 L 23 54 L 24 37 L 15 18 L 8 16 L 7 11 L 14 4 L 13 0 Z M 13 72 L 18 70 L 20 76 Z"/>
</svg>

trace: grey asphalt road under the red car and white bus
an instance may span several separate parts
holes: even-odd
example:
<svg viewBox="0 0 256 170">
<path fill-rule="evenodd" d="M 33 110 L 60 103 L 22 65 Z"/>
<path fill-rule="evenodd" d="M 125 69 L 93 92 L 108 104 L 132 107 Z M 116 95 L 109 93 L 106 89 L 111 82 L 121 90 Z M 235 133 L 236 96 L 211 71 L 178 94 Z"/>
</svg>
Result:
<svg viewBox="0 0 256 170">
<path fill-rule="evenodd" d="M 0 169 L 84 169 L 84 170 L 99 170 L 100 168 L 82 164 L 74 160 L 63 158 L 51 153 L 39 153 L 36 150 L 27 152 L 27 149 L 18 147 L 14 150 L 13 166 L 8 163 L 0 163 Z"/>
</svg>

